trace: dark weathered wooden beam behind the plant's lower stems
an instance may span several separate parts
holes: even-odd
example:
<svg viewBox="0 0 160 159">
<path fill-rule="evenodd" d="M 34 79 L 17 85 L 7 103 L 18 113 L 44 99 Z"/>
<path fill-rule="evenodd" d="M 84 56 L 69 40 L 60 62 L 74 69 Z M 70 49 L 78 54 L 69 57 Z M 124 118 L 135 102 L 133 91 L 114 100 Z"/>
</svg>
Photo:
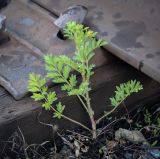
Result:
<svg viewBox="0 0 160 159">
<path fill-rule="evenodd" d="M 133 95 L 132 98 L 127 100 L 126 104 L 132 104 L 131 108 L 133 108 L 134 102 L 160 93 L 159 83 L 136 71 L 129 65 L 123 62 L 105 65 L 96 69 L 92 79 L 91 99 L 96 117 L 103 114 L 104 110 L 110 108 L 109 97 L 113 96 L 115 86 L 130 79 L 140 80 L 144 85 L 144 90 L 141 93 Z M 60 92 L 58 85 L 53 89 L 58 93 L 63 104 L 67 106 L 64 113 L 75 120 L 87 124 L 86 113 L 77 98 L 66 97 L 65 93 Z M 30 97 L 16 101 L 8 94 L 5 98 L 0 98 L 0 155 L 4 144 L 2 141 L 6 141 L 18 126 L 21 128 L 28 144 L 40 143 L 53 137 L 51 129 L 41 125 L 37 120 L 40 110 L 41 103 L 34 102 Z M 52 119 L 52 116 L 53 114 L 49 111 L 43 111 L 40 120 L 57 125 L 59 129 L 76 128 L 76 125 L 63 119 Z"/>
</svg>

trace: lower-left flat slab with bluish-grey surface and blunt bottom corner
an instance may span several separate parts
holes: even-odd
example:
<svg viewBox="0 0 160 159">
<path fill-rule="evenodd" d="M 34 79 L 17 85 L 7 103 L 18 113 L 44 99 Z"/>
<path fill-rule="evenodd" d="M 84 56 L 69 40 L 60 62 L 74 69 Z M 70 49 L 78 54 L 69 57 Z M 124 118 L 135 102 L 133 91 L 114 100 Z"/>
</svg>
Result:
<svg viewBox="0 0 160 159">
<path fill-rule="evenodd" d="M 31 72 L 45 74 L 38 55 L 13 38 L 0 46 L 0 85 L 16 99 L 28 92 L 28 74 Z"/>
</svg>

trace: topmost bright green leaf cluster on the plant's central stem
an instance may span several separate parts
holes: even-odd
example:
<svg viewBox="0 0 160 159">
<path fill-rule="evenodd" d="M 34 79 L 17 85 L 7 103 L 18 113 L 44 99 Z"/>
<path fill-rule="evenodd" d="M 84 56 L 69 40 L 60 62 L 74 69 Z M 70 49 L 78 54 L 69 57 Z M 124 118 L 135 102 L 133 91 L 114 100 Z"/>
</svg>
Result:
<svg viewBox="0 0 160 159">
<path fill-rule="evenodd" d="M 94 68 L 94 65 L 89 65 L 89 61 L 94 56 L 93 50 L 106 45 L 106 41 L 102 39 L 97 40 L 95 38 L 97 35 L 96 32 L 75 22 L 68 23 L 64 33 L 65 36 L 72 39 L 76 45 L 75 55 L 72 59 L 72 63 L 77 64 L 75 70 L 78 70 L 78 72 L 86 76 L 87 80 L 89 80 Z"/>
</svg>

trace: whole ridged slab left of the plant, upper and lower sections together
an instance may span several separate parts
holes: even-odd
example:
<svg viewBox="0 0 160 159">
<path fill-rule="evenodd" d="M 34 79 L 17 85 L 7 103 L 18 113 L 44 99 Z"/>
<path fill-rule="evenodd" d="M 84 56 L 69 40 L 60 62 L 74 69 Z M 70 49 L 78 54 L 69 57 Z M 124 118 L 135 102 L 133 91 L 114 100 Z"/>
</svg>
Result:
<svg viewBox="0 0 160 159">
<path fill-rule="evenodd" d="M 73 42 L 57 37 L 54 18 L 30 3 L 11 1 L 2 12 L 7 17 L 6 30 L 11 40 L 0 46 L 0 85 L 15 99 L 21 99 L 28 93 L 29 73 L 44 75 L 43 55 L 72 56 L 75 47 Z M 106 51 L 97 49 L 93 62 L 100 67 L 111 59 L 111 55 L 106 56 Z"/>
</svg>

